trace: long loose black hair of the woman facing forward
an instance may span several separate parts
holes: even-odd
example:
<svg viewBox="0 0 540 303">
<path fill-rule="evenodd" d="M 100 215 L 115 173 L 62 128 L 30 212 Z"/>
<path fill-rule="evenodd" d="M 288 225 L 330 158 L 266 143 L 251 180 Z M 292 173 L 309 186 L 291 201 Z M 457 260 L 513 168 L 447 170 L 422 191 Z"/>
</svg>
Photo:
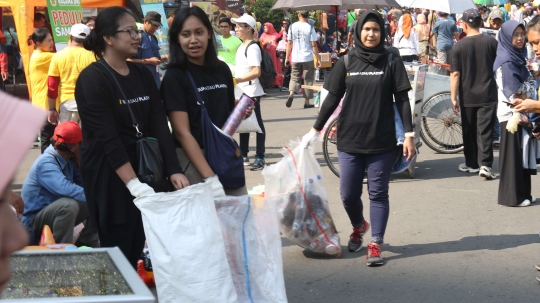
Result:
<svg viewBox="0 0 540 303">
<path fill-rule="evenodd" d="M 169 29 L 169 63 L 167 64 L 167 68 L 179 67 L 186 69 L 188 66 L 189 61 L 186 53 L 180 46 L 178 36 L 182 32 L 186 19 L 190 16 L 199 18 L 210 35 L 210 41 L 208 41 L 208 47 L 204 53 L 204 66 L 217 68 L 220 61 L 217 57 L 214 29 L 206 13 L 197 6 L 183 8 L 180 11 L 177 11 L 176 15 L 174 16 L 174 20 L 171 23 L 171 28 Z"/>
</svg>

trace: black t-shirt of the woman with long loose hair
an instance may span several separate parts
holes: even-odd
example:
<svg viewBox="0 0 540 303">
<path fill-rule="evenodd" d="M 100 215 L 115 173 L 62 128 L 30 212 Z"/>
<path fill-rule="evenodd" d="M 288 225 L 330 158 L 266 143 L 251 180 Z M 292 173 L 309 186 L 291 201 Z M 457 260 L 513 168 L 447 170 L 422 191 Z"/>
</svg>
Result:
<svg viewBox="0 0 540 303">
<path fill-rule="evenodd" d="M 235 106 L 231 70 L 224 62 L 217 69 L 189 63 L 189 71 L 204 101 L 208 116 L 214 125 L 222 128 Z M 180 68 L 169 68 L 161 83 L 161 99 L 167 111 L 188 113 L 191 134 L 204 148 L 202 141 L 201 107 L 189 77 Z M 180 142 L 174 139 L 177 147 Z"/>
</svg>

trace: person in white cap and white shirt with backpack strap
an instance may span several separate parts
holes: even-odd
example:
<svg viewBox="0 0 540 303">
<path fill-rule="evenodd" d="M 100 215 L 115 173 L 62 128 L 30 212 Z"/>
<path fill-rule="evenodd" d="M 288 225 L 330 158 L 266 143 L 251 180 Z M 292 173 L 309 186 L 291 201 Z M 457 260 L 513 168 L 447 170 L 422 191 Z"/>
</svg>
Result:
<svg viewBox="0 0 540 303">
<path fill-rule="evenodd" d="M 235 81 L 243 93 L 255 100 L 255 117 L 262 131 L 256 135 L 257 150 L 253 163 L 250 164 L 248 158 L 249 133 L 240 134 L 240 150 L 244 157 L 245 166 L 251 166 L 251 170 L 262 170 L 266 166 L 264 161 L 266 131 L 261 116 L 261 96 L 264 95 L 264 90 L 259 81 L 262 50 L 259 44 L 253 41 L 257 23 L 250 15 L 232 18 L 231 21 L 236 24 L 236 36 L 242 40 L 242 44 L 236 51 Z"/>
</svg>

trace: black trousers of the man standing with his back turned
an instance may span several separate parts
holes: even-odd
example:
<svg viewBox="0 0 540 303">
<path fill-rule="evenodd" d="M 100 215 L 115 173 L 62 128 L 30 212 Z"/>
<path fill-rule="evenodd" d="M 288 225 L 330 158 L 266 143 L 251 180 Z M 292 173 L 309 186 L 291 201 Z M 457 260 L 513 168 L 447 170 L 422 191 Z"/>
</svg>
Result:
<svg viewBox="0 0 540 303">
<path fill-rule="evenodd" d="M 493 166 L 493 125 L 497 103 L 482 107 L 461 107 L 463 154 L 471 168 Z"/>
</svg>

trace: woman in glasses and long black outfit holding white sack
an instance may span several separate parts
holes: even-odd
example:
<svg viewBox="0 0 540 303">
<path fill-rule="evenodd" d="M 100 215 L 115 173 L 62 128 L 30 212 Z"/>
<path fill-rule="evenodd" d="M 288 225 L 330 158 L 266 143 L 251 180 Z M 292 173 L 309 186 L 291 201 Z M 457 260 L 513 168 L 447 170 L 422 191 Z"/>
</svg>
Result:
<svg viewBox="0 0 540 303">
<path fill-rule="evenodd" d="M 126 61 L 137 54 L 140 41 L 141 31 L 125 8 L 104 9 L 84 41 L 84 47 L 100 60 L 81 72 L 75 88 L 84 121 L 80 169 L 90 226 L 97 227 L 102 246 L 118 246 L 133 267 L 145 240 L 141 213 L 133 197 L 151 195 L 154 189 L 141 183 L 135 174 L 137 130 L 127 104 L 138 130 L 159 142 L 164 171 L 173 187 L 189 185 L 178 164 L 152 74 L 145 66 Z"/>
</svg>

